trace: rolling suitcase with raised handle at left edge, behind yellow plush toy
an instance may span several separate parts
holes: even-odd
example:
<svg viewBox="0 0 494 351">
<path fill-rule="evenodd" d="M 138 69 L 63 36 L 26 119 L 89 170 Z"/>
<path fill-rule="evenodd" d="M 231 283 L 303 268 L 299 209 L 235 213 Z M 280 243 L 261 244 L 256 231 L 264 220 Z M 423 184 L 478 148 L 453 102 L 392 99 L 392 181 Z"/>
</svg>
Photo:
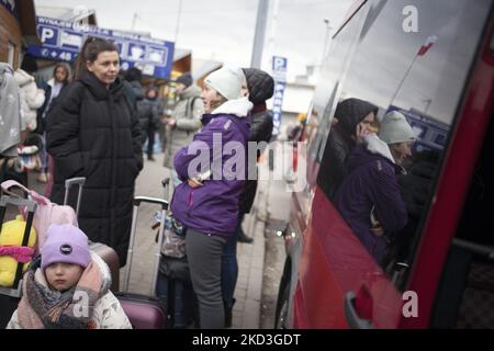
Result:
<svg viewBox="0 0 494 351">
<path fill-rule="evenodd" d="M 34 212 L 36 211 L 37 204 L 31 200 L 2 195 L 0 199 L 0 231 L 3 225 L 8 205 L 27 208 L 26 226 L 21 245 L 25 247 L 27 246 L 31 227 L 33 225 Z M 12 287 L 0 286 L 0 329 L 4 329 L 7 327 L 7 324 L 12 317 L 12 314 L 18 308 L 18 304 L 22 293 L 22 267 L 23 263 L 19 263 L 16 267 Z"/>
</svg>

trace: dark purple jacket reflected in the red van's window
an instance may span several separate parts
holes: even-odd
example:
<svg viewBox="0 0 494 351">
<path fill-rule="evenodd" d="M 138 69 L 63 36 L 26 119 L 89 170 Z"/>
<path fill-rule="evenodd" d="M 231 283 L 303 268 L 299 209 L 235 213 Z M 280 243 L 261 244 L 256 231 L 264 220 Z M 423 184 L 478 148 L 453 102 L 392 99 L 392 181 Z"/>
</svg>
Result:
<svg viewBox="0 0 494 351">
<path fill-rule="evenodd" d="M 385 145 L 385 144 L 384 144 Z M 336 193 L 334 205 L 370 254 L 381 262 L 386 241 L 371 230 L 372 207 L 384 234 L 393 236 L 407 223 L 405 204 L 400 193 L 396 172 L 403 169 L 381 154 L 358 146 L 348 160 L 349 174 Z"/>
</svg>

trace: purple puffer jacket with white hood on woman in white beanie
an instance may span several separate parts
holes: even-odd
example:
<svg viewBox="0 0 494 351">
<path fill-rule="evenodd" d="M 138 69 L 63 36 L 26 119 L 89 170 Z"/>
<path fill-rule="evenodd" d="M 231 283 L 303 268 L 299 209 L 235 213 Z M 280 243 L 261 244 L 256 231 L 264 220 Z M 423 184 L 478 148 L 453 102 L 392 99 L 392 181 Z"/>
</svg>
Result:
<svg viewBox="0 0 494 351">
<path fill-rule="evenodd" d="M 216 139 L 222 140 L 223 148 L 228 141 L 237 141 L 246 152 L 250 133 L 247 115 L 251 107 L 252 104 L 247 99 L 229 100 L 212 114 L 203 115 L 204 127 L 194 136 L 190 145 L 176 154 L 175 169 L 183 183 L 175 190 L 171 212 L 187 227 L 212 235 L 231 236 L 234 234 L 238 219 L 238 202 L 246 182 L 247 155 L 242 156 L 244 162 L 240 162 L 242 159 L 239 159 L 237 163 L 235 159 L 238 156 L 225 149 L 221 156 L 220 167 L 215 167 L 216 162 L 213 163 L 213 135 L 216 134 Z M 192 150 L 199 149 L 201 145 L 207 145 L 210 151 L 204 154 L 209 155 L 205 158 L 209 160 L 207 168 L 201 169 L 199 173 L 203 173 L 211 167 L 212 179 L 205 180 L 203 186 L 192 189 L 187 180 L 197 176 L 198 171 L 194 166 L 200 165 L 198 156 L 201 156 Z M 191 150 L 192 155 L 189 155 L 188 150 Z M 215 161 L 218 159 L 220 157 L 215 158 Z M 229 162 L 227 162 L 228 160 Z M 226 180 L 225 174 L 220 173 L 222 174 L 221 179 L 214 180 L 214 174 L 218 170 L 233 168 L 233 171 L 236 171 L 232 165 L 242 167 L 242 179 Z M 189 174 L 189 166 L 193 169 L 192 174 Z"/>
</svg>

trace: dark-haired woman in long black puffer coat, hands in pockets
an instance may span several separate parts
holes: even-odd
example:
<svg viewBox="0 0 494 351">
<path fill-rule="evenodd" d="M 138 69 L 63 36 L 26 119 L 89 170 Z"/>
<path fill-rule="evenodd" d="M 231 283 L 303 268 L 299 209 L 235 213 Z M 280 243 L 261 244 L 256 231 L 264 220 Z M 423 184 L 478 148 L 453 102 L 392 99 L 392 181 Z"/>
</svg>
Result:
<svg viewBox="0 0 494 351">
<path fill-rule="evenodd" d="M 125 265 L 134 182 L 143 168 L 141 128 L 119 75 L 116 47 L 90 37 L 76 80 L 47 115 L 47 150 L 54 158 L 52 201 L 64 201 L 65 180 L 86 177 L 79 226 L 92 241 L 115 249 Z M 76 204 L 76 191 L 69 204 Z M 72 196 L 74 195 L 74 196 Z"/>
</svg>

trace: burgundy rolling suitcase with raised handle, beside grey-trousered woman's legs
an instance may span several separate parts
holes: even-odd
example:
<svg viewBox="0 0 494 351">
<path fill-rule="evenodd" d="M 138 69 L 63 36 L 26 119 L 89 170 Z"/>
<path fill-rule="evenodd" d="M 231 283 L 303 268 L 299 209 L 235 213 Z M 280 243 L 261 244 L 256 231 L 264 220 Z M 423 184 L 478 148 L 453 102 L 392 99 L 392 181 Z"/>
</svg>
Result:
<svg viewBox="0 0 494 351">
<path fill-rule="evenodd" d="M 157 252 L 155 253 L 155 264 L 153 269 L 153 282 L 149 292 L 149 296 L 141 294 L 128 293 L 128 282 L 132 272 L 132 258 L 134 254 L 134 240 L 137 225 L 137 214 L 138 208 L 142 203 L 156 204 L 161 207 L 161 215 L 165 216 L 165 212 L 168 208 L 168 202 L 161 199 L 136 196 L 134 199 L 134 210 L 132 215 L 132 230 L 131 239 L 128 244 L 127 262 L 125 264 L 125 275 L 122 286 L 122 292 L 116 293 L 115 296 L 119 298 L 123 310 L 128 317 L 134 329 L 165 329 L 168 327 L 167 313 L 164 305 L 159 298 L 154 297 L 155 286 L 158 276 L 158 264 L 159 264 L 159 249 L 162 242 L 162 233 L 165 228 L 165 223 L 159 226 L 159 239 L 157 246 Z"/>
</svg>

